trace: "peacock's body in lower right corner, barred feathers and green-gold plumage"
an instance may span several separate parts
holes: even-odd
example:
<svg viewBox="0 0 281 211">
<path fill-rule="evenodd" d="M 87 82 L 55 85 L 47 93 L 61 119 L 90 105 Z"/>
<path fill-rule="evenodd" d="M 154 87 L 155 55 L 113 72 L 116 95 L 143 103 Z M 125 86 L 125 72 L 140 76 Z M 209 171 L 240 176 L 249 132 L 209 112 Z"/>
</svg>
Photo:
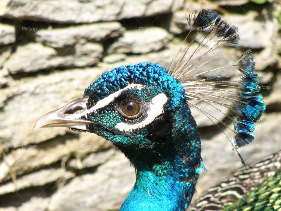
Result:
<svg viewBox="0 0 281 211">
<path fill-rule="evenodd" d="M 186 211 L 281 210 L 281 151 L 235 171 Z M 231 206 L 229 206 L 231 205 Z"/>
</svg>

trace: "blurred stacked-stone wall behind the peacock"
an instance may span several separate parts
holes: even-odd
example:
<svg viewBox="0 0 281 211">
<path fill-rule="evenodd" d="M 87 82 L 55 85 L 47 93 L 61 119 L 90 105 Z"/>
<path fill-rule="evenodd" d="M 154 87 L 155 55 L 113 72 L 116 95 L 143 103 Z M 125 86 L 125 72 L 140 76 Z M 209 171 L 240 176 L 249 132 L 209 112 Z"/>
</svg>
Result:
<svg viewBox="0 0 281 211">
<path fill-rule="evenodd" d="M 188 30 L 186 15 L 202 8 L 236 25 L 243 50 L 256 56 L 267 109 L 243 149 L 248 163 L 280 150 L 280 1 L 1 0 L 1 211 L 119 210 L 135 182 L 123 154 L 93 134 L 32 127 L 83 96 L 101 72 L 138 62 L 169 67 Z M 214 123 L 193 115 L 208 169 L 196 198 L 242 165 Z"/>
</svg>

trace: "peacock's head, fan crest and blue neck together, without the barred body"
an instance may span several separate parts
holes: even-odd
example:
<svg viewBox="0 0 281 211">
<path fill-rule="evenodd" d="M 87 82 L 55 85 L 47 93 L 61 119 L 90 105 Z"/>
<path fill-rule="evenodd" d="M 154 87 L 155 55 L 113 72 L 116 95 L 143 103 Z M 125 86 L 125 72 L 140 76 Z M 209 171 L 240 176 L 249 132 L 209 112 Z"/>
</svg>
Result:
<svg viewBox="0 0 281 211">
<path fill-rule="evenodd" d="M 187 23 L 189 33 L 168 69 L 142 62 L 104 72 L 83 97 L 34 125 L 95 133 L 119 148 L 136 171 L 121 211 L 189 207 L 207 170 L 191 109 L 222 122 L 218 126 L 246 165 L 239 148 L 253 141 L 265 110 L 253 53 L 241 53 L 238 29 L 208 9 L 190 14 Z"/>
</svg>

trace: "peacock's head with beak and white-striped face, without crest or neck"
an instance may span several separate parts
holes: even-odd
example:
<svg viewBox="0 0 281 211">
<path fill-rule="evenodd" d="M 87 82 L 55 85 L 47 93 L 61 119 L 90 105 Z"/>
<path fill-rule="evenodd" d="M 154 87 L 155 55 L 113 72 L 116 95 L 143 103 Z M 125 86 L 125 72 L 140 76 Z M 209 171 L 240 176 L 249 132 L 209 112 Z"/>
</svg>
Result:
<svg viewBox="0 0 281 211">
<path fill-rule="evenodd" d="M 189 110 L 183 85 L 159 64 L 139 63 L 102 73 L 83 98 L 47 113 L 35 128 L 69 127 L 96 133 L 122 148 L 157 152 L 181 110 Z"/>
</svg>

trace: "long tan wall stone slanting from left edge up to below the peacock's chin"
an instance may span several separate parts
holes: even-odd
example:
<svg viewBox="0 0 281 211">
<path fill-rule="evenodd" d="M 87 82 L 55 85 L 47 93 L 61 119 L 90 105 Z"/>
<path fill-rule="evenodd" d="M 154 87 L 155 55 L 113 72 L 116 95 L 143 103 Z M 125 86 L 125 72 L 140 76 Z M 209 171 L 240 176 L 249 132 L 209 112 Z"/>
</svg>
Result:
<svg viewBox="0 0 281 211">
<path fill-rule="evenodd" d="M 21 175 L 39 169 L 42 166 L 47 167 L 61 160 L 66 162 L 70 155 L 81 159 L 87 156 L 88 153 L 104 151 L 110 147 L 112 147 L 112 144 L 109 141 L 90 133 L 67 134 L 40 144 L 23 144 L 22 148 L 13 150 L 1 162 L 0 167 L 2 171 L 0 179 L 10 179 L 10 172 Z M 107 161 L 108 156 L 112 154 L 112 151 L 96 154 L 96 159 L 93 160 L 92 164 L 87 159 L 83 160 L 81 168 L 101 164 Z M 65 164 L 66 167 L 68 165 Z"/>
</svg>

